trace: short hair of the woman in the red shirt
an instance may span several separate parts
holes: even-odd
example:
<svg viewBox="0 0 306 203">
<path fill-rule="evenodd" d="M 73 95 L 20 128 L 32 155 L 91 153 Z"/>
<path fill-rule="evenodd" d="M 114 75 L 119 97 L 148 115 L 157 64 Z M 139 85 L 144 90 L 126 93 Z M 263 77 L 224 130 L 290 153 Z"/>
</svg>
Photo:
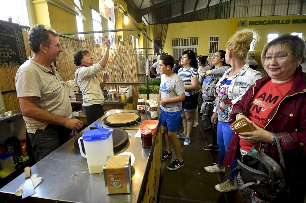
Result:
<svg viewBox="0 0 306 203">
<path fill-rule="evenodd" d="M 271 46 L 280 45 L 281 49 L 284 50 L 288 48 L 293 53 L 294 62 L 298 62 L 300 59 L 305 61 L 306 55 L 306 44 L 303 39 L 299 36 L 294 36 L 290 33 L 282 34 L 279 37 L 273 39 L 271 42 L 268 42 L 264 45 L 263 51 L 261 52 L 261 57 L 266 56 L 268 49 Z M 264 66 L 264 59 L 261 58 L 261 63 Z"/>
</svg>

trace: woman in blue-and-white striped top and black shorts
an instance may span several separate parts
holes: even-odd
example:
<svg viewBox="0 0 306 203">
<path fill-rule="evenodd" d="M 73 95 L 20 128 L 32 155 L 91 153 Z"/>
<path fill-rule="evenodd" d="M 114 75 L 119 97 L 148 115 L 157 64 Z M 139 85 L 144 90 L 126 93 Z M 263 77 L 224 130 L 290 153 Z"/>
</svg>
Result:
<svg viewBox="0 0 306 203">
<path fill-rule="evenodd" d="M 181 59 L 182 68 L 178 70 L 178 75 L 181 76 L 185 87 L 185 100 L 182 101 L 183 111 L 183 132 L 177 135 L 178 138 L 185 138 L 184 145 L 190 144 L 190 135 L 193 128 L 193 117 L 198 108 L 198 93 L 196 89 L 199 83 L 199 73 L 197 70 L 196 55 L 192 50 L 187 50 L 182 53 Z"/>
</svg>

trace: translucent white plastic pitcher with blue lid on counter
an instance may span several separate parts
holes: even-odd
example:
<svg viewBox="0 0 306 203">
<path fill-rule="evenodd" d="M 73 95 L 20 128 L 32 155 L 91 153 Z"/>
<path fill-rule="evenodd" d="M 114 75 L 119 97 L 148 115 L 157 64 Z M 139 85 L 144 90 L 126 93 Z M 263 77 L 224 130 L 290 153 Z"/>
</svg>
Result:
<svg viewBox="0 0 306 203">
<path fill-rule="evenodd" d="M 96 130 L 88 130 L 79 138 L 80 154 L 87 159 L 89 173 L 103 173 L 103 165 L 107 156 L 114 156 L 113 129 L 102 128 L 96 124 Z M 85 153 L 81 146 L 83 140 Z"/>
</svg>

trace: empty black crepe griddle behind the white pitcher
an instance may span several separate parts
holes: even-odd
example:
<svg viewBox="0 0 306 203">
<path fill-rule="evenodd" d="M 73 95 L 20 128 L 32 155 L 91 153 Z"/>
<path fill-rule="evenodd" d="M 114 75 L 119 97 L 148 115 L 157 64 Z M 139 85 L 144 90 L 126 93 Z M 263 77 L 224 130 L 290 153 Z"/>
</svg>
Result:
<svg viewBox="0 0 306 203">
<path fill-rule="evenodd" d="M 114 147 L 114 152 L 120 151 L 123 147 L 125 147 L 126 143 L 129 142 L 129 135 L 125 130 L 121 129 L 113 129 L 113 147 Z M 76 153 L 80 154 L 80 147 L 78 143 L 78 139 L 74 141 L 74 150 Z M 83 145 L 83 140 L 81 140 L 81 145 L 83 148 L 83 152 L 85 153 L 84 145 Z"/>
</svg>

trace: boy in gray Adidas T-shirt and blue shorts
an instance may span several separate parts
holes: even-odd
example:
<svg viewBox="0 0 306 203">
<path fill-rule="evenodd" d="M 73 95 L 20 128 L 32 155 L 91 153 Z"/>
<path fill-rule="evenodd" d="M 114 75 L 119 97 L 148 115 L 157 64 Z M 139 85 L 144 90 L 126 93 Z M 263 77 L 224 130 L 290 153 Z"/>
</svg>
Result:
<svg viewBox="0 0 306 203">
<path fill-rule="evenodd" d="M 162 160 L 172 157 L 172 143 L 176 159 L 167 167 L 172 171 L 185 165 L 182 158 L 181 142 L 177 138 L 182 113 L 181 102 L 185 100 L 185 88 L 182 78 L 172 72 L 173 66 L 174 58 L 172 56 L 166 55 L 160 58 L 159 69 L 162 75 L 157 99 L 166 139 L 166 151 L 162 153 Z"/>
</svg>

